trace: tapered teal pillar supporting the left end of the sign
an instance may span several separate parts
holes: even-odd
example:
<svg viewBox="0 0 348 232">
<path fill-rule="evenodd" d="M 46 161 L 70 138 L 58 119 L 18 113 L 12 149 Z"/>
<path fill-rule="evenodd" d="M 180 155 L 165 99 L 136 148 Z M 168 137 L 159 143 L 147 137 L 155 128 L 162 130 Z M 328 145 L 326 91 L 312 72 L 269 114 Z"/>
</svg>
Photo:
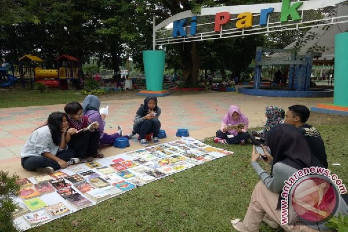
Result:
<svg viewBox="0 0 348 232">
<path fill-rule="evenodd" d="M 163 87 L 166 52 L 160 50 L 143 51 L 146 89 L 161 91 Z"/>
</svg>

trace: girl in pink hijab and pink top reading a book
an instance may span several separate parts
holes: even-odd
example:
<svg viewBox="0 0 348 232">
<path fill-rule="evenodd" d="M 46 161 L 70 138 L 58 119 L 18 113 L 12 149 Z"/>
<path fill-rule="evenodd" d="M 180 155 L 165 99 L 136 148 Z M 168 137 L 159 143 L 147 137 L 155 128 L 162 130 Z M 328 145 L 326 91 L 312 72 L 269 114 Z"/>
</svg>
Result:
<svg viewBox="0 0 348 232">
<path fill-rule="evenodd" d="M 238 128 L 231 129 L 238 125 Z M 244 145 L 249 138 L 248 126 L 248 118 L 240 112 L 238 106 L 231 105 L 228 113 L 222 119 L 221 129 L 216 131 L 214 143 Z"/>
</svg>

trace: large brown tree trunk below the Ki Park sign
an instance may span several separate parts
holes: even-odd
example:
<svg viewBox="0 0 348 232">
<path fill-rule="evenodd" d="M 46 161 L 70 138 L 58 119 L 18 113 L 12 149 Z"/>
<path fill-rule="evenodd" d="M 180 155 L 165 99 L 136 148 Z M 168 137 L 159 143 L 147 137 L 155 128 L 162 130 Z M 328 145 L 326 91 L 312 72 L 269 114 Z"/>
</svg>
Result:
<svg viewBox="0 0 348 232">
<path fill-rule="evenodd" d="M 199 57 L 197 42 L 188 42 L 178 45 L 184 87 L 198 86 Z"/>
</svg>

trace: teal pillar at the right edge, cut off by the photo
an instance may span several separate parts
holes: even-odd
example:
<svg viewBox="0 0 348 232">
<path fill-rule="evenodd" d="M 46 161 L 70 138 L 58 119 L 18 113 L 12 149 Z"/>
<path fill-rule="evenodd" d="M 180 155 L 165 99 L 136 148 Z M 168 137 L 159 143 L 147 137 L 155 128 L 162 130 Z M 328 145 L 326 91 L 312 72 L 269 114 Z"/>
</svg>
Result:
<svg viewBox="0 0 348 232">
<path fill-rule="evenodd" d="M 335 35 L 333 104 L 348 106 L 348 32 Z"/>
</svg>

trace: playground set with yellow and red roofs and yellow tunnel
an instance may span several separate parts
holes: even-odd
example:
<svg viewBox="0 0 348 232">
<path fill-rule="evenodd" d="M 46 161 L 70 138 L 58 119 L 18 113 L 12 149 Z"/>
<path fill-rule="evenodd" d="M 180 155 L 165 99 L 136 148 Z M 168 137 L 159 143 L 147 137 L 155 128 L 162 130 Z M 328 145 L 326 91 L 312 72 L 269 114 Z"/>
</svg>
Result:
<svg viewBox="0 0 348 232">
<path fill-rule="evenodd" d="M 13 73 L 20 78 L 23 89 L 25 89 L 25 83 L 30 83 L 31 89 L 36 82 L 61 90 L 68 89 L 68 80 L 71 82 L 77 80 L 81 83 L 77 58 L 61 55 L 56 58 L 57 69 L 42 69 L 39 65 L 42 62 L 44 61 L 37 56 L 25 55 L 19 58 L 19 65 L 14 65 Z"/>
</svg>

